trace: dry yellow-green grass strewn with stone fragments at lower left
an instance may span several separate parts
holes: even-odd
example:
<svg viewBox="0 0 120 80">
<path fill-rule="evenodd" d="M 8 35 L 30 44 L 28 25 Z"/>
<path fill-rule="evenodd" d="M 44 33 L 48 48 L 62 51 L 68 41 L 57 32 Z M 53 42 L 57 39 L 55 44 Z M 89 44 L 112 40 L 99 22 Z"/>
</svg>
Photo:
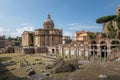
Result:
<svg viewBox="0 0 120 80">
<path fill-rule="evenodd" d="M 24 63 L 25 62 L 24 59 L 34 65 L 20 68 L 20 61 Z M 40 60 L 36 61 L 36 59 L 40 59 Z M 23 55 L 18 53 L 0 54 L 0 61 L 8 61 L 8 62 L 15 61 L 17 63 L 16 65 L 10 65 L 10 66 L 4 67 L 4 69 L 7 69 L 8 71 L 0 74 L 0 79 L 4 79 L 8 77 L 11 79 L 7 79 L 7 80 L 26 80 L 26 77 L 28 75 L 26 70 L 30 67 L 32 67 L 36 73 L 40 73 L 41 70 L 45 72 L 49 72 L 49 70 L 45 70 L 45 65 L 44 65 L 47 59 L 37 54 L 31 54 L 31 55 Z M 42 64 L 38 64 L 37 62 L 39 61 L 41 61 Z M 12 70 L 14 68 L 15 70 Z"/>
</svg>

